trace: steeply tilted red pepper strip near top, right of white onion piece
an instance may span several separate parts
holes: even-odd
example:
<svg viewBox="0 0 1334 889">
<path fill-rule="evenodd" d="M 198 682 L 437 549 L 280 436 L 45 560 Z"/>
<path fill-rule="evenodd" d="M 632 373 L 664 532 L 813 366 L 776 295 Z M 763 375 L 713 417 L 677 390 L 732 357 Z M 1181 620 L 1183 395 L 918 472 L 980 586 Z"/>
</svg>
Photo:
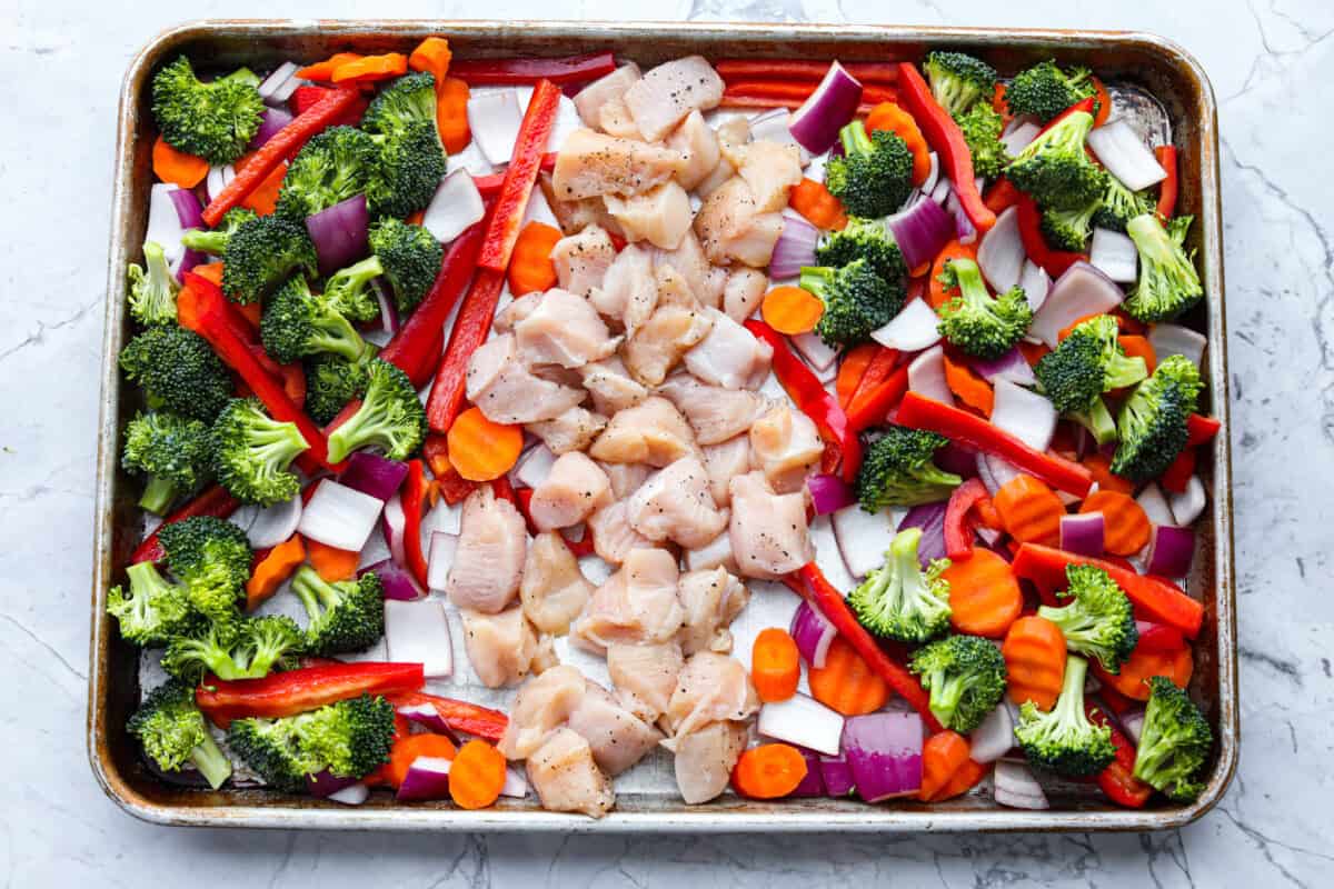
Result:
<svg viewBox="0 0 1334 889">
<path fill-rule="evenodd" d="M 487 237 L 482 241 L 482 255 L 478 265 L 492 272 L 504 272 L 510 267 L 514 243 L 519 240 L 523 227 L 523 213 L 528 208 L 528 197 L 538 183 L 538 167 L 542 153 L 556 123 L 556 108 L 560 89 L 550 80 L 543 80 L 532 91 L 528 109 L 519 125 L 519 137 L 514 144 L 514 155 L 504 171 L 504 183 L 491 208 L 491 221 Z"/>
</svg>

